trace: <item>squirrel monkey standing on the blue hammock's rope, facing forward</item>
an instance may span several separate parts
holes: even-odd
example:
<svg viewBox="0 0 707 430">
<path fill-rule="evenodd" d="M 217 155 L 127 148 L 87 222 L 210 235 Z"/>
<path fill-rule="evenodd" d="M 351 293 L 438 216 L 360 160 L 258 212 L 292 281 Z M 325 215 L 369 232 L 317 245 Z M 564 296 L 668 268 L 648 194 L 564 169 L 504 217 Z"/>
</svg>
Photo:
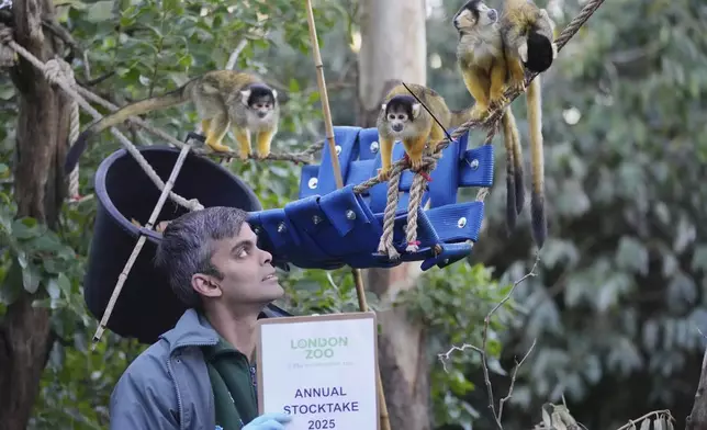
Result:
<svg viewBox="0 0 707 430">
<path fill-rule="evenodd" d="M 444 139 L 445 131 L 449 127 L 451 113 L 445 99 L 437 91 L 417 83 L 407 83 L 407 88 L 415 93 L 419 101 L 409 93 L 405 86 L 397 84 L 383 99 L 378 115 L 375 125 L 381 145 L 382 163 L 379 178 L 383 181 L 390 178 L 395 140 L 403 142 L 405 157 L 411 162 L 411 170 L 417 170 L 423 165 L 423 151 L 427 142 Z M 425 106 L 431 112 L 431 115 Z M 441 126 L 437 121 L 441 123 Z"/>
</svg>

